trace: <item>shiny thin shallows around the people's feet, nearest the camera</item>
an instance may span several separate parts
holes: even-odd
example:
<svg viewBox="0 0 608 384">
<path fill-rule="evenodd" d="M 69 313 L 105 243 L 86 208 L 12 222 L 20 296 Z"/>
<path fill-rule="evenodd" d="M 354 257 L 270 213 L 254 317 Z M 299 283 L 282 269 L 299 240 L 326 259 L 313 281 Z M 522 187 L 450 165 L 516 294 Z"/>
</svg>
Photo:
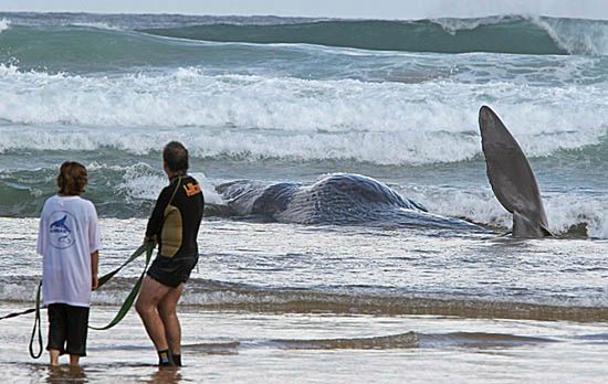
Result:
<svg viewBox="0 0 608 384">
<path fill-rule="evenodd" d="M 114 310 L 95 308 L 92 322 Z M 0 366 L 13 382 L 91 383 L 602 383 L 608 373 L 604 323 L 192 308 L 180 318 L 186 365 L 177 371 L 153 365 L 156 354 L 134 314 L 111 332 L 91 332 L 78 378 L 27 356 L 25 319 L 3 329 L 11 342 Z M 365 342 L 371 338 L 378 341 Z"/>
</svg>

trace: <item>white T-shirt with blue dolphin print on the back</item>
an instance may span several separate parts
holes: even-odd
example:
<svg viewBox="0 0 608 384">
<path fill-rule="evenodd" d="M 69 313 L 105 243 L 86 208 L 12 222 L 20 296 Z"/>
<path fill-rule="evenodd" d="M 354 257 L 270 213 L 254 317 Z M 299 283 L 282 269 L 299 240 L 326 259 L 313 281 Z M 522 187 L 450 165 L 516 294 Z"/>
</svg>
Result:
<svg viewBox="0 0 608 384">
<path fill-rule="evenodd" d="M 91 305 L 91 254 L 101 247 L 97 212 L 88 200 L 54 195 L 40 215 L 38 253 L 43 256 L 44 305 Z"/>
</svg>

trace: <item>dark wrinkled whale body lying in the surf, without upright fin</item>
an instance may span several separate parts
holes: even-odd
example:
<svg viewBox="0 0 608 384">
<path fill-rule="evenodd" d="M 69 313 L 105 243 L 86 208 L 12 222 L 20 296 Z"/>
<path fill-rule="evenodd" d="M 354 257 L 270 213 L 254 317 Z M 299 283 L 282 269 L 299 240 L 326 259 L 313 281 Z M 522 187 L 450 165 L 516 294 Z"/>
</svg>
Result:
<svg viewBox="0 0 608 384">
<path fill-rule="evenodd" d="M 483 231 L 463 220 L 429 213 L 388 185 L 360 174 L 329 174 L 308 185 L 234 181 L 219 185 L 217 192 L 235 215 L 261 215 L 284 223 Z"/>
</svg>

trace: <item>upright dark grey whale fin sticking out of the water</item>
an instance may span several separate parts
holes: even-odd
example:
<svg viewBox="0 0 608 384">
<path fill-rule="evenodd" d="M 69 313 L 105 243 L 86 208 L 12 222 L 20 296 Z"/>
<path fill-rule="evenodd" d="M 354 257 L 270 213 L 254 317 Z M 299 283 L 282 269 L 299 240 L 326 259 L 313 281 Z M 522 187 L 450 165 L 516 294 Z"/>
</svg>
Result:
<svg viewBox="0 0 608 384">
<path fill-rule="evenodd" d="M 513 213 L 513 236 L 552 236 L 538 183 L 520 145 L 489 107 L 481 107 L 479 122 L 488 179 L 496 199 Z"/>
</svg>

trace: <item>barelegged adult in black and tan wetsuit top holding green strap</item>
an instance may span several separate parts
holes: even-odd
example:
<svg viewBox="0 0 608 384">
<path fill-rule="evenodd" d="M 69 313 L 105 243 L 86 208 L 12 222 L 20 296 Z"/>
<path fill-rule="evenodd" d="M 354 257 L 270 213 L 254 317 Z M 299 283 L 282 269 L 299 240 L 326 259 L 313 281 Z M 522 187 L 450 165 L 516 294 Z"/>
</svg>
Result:
<svg viewBox="0 0 608 384">
<path fill-rule="evenodd" d="M 200 184 L 186 172 L 188 150 L 171 141 L 163 150 L 169 185 L 148 220 L 145 242 L 158 244 L 135 308 L 158 352 L 159 365 L 181 365 L 177 302 L 198 263 L 197 236 L 205 209 Z"/>
</svg>

